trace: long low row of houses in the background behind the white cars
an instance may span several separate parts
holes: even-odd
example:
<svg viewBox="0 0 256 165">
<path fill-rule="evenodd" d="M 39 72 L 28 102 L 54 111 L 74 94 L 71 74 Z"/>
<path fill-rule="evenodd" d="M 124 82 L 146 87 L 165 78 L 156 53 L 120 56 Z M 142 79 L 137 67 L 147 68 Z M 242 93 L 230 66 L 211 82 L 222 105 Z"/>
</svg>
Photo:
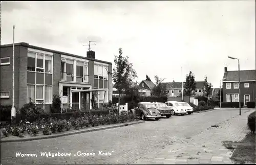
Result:
<svg viewBox="0 0 256 165">
<path fill-rule="evenodd" d="M 173 82 L 165 82 L 162 84 L 166 86 L 168 97 L 182 96 L 182 82 L 173 81 Z M 184 89 L 184 86 L 185 86 L 185 82 L 183 82 L 183 89 Z M 196 89 L 195 91 L 193 91 L 193 93 L 195 93 L 195 96 L 203 96 L 203 86 L 204 86 L 203 81 L 196 82 Z"/>
</svg>

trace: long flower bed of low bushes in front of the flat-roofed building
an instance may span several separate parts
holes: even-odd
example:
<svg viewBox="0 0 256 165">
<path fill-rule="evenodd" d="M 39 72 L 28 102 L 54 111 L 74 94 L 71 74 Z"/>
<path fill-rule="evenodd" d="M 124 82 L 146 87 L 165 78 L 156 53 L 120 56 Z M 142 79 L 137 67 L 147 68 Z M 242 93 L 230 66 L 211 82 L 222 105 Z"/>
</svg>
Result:
<svg viewBox="0 0 256 165">
<path fill-rule="evenodd" d="M 1 131 L 4 137 L 17 136 L 28 137 L 37 135 L 50 135 L 63 131 L 79 130 L 88 127 L 97 127 L 99 125 L 110 125 L 125 122 L 136 121 L 138 118 L 132 113 L 116 115 L 94 115 L 94 114 L 79 114 L 77 117 L 70 119 L 39 119 L 33 123 L 28 121 L 20 121 L 17 124 L 5 125 Z M 3 138 L 3 137 L 2 137 Z"/>
</svg>

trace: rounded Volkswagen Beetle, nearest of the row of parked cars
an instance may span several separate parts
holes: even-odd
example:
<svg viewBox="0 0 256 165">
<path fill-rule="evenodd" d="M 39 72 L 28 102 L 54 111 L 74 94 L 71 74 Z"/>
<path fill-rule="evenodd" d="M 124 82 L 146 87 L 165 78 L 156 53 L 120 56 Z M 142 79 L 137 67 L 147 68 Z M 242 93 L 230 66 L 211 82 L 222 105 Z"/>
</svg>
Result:
<svg viewBox="0 0 256 165">
<path fill-rule="evenodd" d="M 142 120 L 161 119 L 161 113 L 157 110 L 155 104 L 151 102 L 140 102 L 138 106 L 131 110 L 134 114 L 141 117 Z"/>
</svg>

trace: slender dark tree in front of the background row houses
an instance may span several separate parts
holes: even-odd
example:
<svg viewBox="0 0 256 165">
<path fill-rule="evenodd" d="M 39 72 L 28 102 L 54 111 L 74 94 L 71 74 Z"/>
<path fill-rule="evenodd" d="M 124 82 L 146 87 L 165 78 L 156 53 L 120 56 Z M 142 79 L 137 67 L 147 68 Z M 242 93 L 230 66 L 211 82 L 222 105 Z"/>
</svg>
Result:
<svg viewBox="0 0 256 165">
<path fill-rule="evenodd" d="M 186 76 L 186 82 L 184 84 L 184 93 L 186 96 L 190 97 L 193 95 L 194 91 L 196 89 L 196 81 L 195 81 L 195 76 L 194 74 L 190 71 L 189 74 Z"/>
</svg>

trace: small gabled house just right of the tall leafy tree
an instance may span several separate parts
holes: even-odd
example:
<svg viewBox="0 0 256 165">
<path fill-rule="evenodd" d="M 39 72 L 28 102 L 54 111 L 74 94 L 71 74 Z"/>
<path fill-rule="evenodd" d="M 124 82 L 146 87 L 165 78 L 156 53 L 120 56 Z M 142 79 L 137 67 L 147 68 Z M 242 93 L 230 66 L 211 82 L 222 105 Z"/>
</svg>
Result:
<svg viewBox="0 0 256 165">
<path fill-rule="evenodd" d="M 151 92 L 155 86 L 156 85 L 151 80 L 142 80 L 138 85 L 140 95 L 151 96 Z"/>
</svg>

